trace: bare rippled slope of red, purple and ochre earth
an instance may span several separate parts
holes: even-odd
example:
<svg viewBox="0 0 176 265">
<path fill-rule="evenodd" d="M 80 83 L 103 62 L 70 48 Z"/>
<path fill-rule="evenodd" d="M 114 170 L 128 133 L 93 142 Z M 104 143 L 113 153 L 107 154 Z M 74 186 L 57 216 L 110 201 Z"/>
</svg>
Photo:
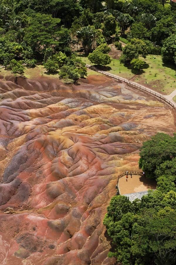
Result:
<svg viewBox="0 0 176 265">
<path fill-rule="evenodd" d="M 176 131 L 162 102 L 104 76 L 0 79 L 0 264 L 114 264 L 102 224 L 143 141 Z M 7 208 L 12 209 L 7 209 Z"/>
</svg>

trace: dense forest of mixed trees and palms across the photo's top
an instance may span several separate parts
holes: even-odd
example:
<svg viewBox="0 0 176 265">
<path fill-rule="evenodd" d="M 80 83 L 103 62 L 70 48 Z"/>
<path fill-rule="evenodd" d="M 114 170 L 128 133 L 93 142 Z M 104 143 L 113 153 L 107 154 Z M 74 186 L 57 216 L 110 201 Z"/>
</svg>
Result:
<svg viewBox="0 0 176 265">
<path fill-rule="evenodd" d="M 42 63 L 49 73 L 59 69 L 66 83 L 87 75 L 74 51 L 82 47 L 97 65 L 111 62 L 107 44 L 122 50 L 122 64 L 142 69 L 139 56 L 161 54 L 176 64 L 176 5 L 165 0 L 2 0 L 0 64 L 13 73 Z"/>
</svg>

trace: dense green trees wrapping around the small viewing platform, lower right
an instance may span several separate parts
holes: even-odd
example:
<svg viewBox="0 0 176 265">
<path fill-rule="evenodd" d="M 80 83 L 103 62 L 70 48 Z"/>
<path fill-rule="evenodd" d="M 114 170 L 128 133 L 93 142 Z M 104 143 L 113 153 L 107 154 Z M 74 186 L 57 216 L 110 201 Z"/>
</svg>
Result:
<svg viewBox="0 0 176 265">
<path fill-rule="evenodd" d="M 104 218 L 122 265 L 176 264 L 176 135 L 158 133 L 143 143 L 139 167 L 157 188 L 133 202 L 114 196 Z"/>
</svg>

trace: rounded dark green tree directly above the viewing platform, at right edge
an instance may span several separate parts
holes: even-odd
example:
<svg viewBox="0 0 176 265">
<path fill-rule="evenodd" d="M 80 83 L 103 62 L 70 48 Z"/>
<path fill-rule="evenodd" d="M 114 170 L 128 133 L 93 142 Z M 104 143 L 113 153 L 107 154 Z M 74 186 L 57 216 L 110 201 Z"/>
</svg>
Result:
<svg viewBox="0 0 176 265">
<path fill-rule="evenodd" d="M 176 135 L 171 137 L 157 133 L 151 140 L 143 143 L 140 156 L 139 167 L 145 171 L 148 178 L 156 178 L 157 167 L 176 157 Z"/>
</svg>

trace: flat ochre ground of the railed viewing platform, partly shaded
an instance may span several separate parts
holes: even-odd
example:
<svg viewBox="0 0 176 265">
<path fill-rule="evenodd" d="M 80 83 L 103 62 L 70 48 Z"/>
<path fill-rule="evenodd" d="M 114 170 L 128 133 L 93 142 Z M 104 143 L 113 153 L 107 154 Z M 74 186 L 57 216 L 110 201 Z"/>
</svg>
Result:
<svg viewBox="0 0 176 265">
<path fill-rule="evenodd" d="M 125 176 L 119 179 L 119 191 L 120 194 L 136 193 L 140 191 L 148 191 L 149 189 L 156 188 L 155 180 L 148 179 L 146 177 L 141 177 L 138 175 L 128 175 L 126 181 Z"/>
</svg>

